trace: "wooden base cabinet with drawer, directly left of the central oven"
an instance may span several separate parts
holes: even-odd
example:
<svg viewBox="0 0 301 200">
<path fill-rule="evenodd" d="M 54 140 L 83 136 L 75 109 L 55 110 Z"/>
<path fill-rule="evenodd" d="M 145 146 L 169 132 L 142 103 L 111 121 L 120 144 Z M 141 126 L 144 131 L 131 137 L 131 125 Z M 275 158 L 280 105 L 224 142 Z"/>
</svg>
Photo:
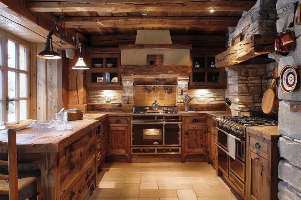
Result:
<svg viewBox="0 0 301 200">
<path fill-rule="evenodd" d="M 129 117 L 109 117 L 109 148 L 110 160 L 130 162 Z"/>
</svg>

